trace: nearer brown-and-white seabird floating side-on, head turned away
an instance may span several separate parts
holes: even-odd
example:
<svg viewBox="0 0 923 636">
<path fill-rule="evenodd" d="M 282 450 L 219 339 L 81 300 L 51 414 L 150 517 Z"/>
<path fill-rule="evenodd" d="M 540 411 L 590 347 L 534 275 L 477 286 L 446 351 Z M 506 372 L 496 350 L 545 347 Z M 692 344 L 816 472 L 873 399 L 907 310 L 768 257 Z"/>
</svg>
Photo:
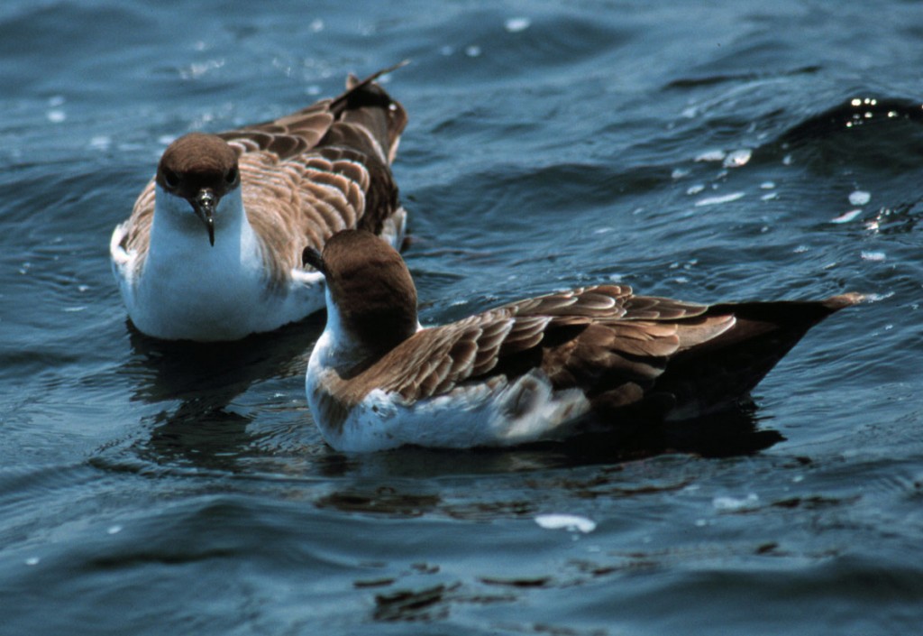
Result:
<svg viewBox="0 0 923 636">
<path fill-rule="evenodd" d="M 306 261 L 327 279 L 307 402 L 347 452 L 589 431 L 629 443 L 657 422 L 726 409 L 812 325 L 862 300 L 703 305 L 598 285 L 422 328 L 406 264 L 374 235 L 344 230 Z"/>
</svg>

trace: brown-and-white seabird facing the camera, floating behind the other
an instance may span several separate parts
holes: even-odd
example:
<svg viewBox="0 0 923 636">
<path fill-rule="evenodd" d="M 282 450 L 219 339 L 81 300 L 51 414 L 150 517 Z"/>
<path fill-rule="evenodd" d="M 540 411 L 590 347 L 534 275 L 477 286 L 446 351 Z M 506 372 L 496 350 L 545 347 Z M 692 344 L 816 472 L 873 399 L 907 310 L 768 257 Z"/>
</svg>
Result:
<svg viewBox="0 0 923 636">
<path fill-rule="evenodd" d="M 198 341 L 271 331 L 324 306 L 306 248 L 348 227 L 401 245 L 390 165 L 407 115 L 374 81 L 394 68 L 350 76 L 339 97 L 274 121 L 167 147 L 110 241 L 138 330 Z"/>
</svg>

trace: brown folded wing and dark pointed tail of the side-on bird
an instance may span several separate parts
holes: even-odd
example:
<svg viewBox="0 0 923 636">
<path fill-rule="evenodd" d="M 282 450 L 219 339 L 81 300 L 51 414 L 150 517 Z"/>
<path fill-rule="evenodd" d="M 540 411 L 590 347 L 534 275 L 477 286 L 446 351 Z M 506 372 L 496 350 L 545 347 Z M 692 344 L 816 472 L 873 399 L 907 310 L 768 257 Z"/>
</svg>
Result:
<svg viewBox="0 0 923 636">
<path fill-rule="evenodd" d="M 430 398 L 539 368 L 604 415 L 701 414 L 745 395 L 811 325 L 859 300 L 709 307 L 624 286 L 558 292 L 418 332 L 363 373 L 354 398 L 375 386 Z"/>
</svg>

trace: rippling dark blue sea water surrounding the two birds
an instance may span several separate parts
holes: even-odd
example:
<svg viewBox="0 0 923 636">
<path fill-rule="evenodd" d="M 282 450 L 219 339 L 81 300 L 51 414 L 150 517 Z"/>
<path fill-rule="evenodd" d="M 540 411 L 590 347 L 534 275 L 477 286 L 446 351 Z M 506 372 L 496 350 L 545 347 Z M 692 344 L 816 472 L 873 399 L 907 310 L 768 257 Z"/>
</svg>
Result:
<svg viewBox="0 0 923 636">
<path fill-rule="evenodd" d="M 919 633 L 921 35 L 897 0 L 6 0 L 0 633 Z M 608 280 L 869 294 L 755 392 L 784 440 L 346 457 L 306 409 L 322 316 L 130 328 L 109 235 L 166 142 L 405 58 L 424 321 Z"/>
</svg>

